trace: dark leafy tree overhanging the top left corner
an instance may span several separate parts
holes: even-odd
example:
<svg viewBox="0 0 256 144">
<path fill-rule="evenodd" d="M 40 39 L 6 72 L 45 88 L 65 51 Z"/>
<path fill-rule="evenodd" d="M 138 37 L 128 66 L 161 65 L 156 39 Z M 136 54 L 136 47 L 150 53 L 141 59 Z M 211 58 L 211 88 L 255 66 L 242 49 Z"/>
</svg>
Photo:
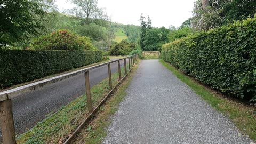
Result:
<svg viewBox="0 0 256 144">
<path fill-rule="evenodd" d="M 2 0 L 0 2 L 0 47 L 39 34 L 44 29 L 44 5 L 38 1 Z"/>
</svg>

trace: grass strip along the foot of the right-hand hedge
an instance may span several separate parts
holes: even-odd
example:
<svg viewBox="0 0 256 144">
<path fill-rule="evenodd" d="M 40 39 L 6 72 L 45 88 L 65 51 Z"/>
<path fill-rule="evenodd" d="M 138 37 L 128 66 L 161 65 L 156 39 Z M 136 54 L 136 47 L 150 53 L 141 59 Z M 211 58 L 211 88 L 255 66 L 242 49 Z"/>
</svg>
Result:
<svg viewBox="0 0 256 144">
<path fill-rule="evenodd" d="M 217 92 L 208 89 L 202 84 L 196 82 L 193 78 L 186 76 L 180 70 L 174 68 L 170 63 L 159 60 L 163 66 L 171 70 L 182 82 L 186 83 L 196 94 L 200 95 L 206 102 L 219 110 L 233 121 L 239 130 L 249 135 L 251 139 L 256 140 L 256 110 L 253 106 L 244 105 L 236 100 L 228 99 L 225 95 L 217 94 Z"/>
</svg>

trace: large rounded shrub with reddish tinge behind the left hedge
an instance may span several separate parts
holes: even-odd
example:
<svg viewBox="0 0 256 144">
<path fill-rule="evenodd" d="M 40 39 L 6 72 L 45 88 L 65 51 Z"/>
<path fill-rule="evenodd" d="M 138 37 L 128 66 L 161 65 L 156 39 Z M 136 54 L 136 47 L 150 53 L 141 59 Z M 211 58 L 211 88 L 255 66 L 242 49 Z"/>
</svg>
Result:
<svg viewBox="0 0 256 144">
<path fill-rule="evenodd" d="M 34 39 L 35 50 L 96 50 L 89 37 L 79 37 L 69 30 L 57 30 Z"/>
</svg>

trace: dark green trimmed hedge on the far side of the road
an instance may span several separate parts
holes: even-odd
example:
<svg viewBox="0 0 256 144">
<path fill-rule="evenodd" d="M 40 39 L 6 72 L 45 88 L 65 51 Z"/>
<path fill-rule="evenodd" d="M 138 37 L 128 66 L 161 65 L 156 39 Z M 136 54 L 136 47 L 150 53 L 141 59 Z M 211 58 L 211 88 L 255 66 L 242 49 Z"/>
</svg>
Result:
<svg viewBox="0 0 256 144">
<path fill-rule="evenodd" d="M 0 85 L 9 87 L 102 61 L 101 51 L 0 50 Z"/>
</svg>

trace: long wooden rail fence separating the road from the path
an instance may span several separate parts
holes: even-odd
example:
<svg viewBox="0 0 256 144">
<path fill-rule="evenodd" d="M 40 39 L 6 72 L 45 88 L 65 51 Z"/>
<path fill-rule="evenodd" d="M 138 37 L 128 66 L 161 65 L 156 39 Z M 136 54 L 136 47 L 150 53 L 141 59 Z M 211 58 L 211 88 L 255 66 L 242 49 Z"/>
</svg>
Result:
<svg viewBox="0 0 256 144">
<path fill-rule="evenodd" d="M 129 71 L 127 71 L 126 66 L 126 59 L 128 59 L 129 64 Z M 18 97 L 18 95 L 23 94 L 25 92 L 30 92 L 38 89 L 39 87 L 43 87 L 45 85 L 55 83 L 58 81 L 62 81 L 63 79 L 67 79 L 72 76 L 76 76 L 78 74 L 84 73 L 85 77 L 85 89 L 86 89 L 86 97 L 87 97 L 87 107 L 89 110 L 89 116 L 85 118 L 85 121 L 78 126 L 78 128 L 74 131 L 73 134 L 70 135 L 70 137 L 66 140 L 65 143 L 70 143 L 71 140 L 73 140 L 76 136 L 76 134 L 85 126 L 85 124 L 90 120 L 90 118 L 95 114 L 97 109 L 106 101 L 106 99 L 109 97 L 111 93 L 114 92 L 116 87 L 124 80 L 124 78 L 127 76 L 128 73 L 130 73 L 132 67 L 139 59 L 138 54 L 131 55 L 129 57 L 118 59 L 106 63 L 102 63 L 100 65 L 92 66 L 89 68 L 77 70 L 68 74 L 63 74 L 59 76 L 55 76 L 52 78 L 44 79 L 42 81 L 38 81 L 35 83 L 27 84 L 24 86 L 20 86 L 11 90 L 0 92 L 0 126 L 2 131 L 2 137 L 3 137 L 3 143 L 4 144 L 13 144 L 16 143 L 15 140 L 15 127 L 14 127 L 14 121 L 13 121 L 13 113 L 12 113 L 12 98 Z M 121 76 L 121 67 L 120 67 L 120 61 L 124 60 L 124 71 L 125 75 L 124 77 Z M 111 80 L 111 68 L 110 64 L 117 62 L 118 65 L 118 73 L 119 73 L 119 79 L 120 81 L 118 84 L 113 88 L 112 80 Z M 131 63 L 131 66 L 130 66 Z M 95 107 L 92 105 L 92 99 L 91 99 L 91 88 L 90 88 L 90 82 L 89 82 L 89 70 L 93 70 L 95 68 L 99 68 L 102 66 L 108 66 L 108 78 L 109 78 L 109 88 L 110 92 L 106 95 L 105 98 Z"/>
</svg>

